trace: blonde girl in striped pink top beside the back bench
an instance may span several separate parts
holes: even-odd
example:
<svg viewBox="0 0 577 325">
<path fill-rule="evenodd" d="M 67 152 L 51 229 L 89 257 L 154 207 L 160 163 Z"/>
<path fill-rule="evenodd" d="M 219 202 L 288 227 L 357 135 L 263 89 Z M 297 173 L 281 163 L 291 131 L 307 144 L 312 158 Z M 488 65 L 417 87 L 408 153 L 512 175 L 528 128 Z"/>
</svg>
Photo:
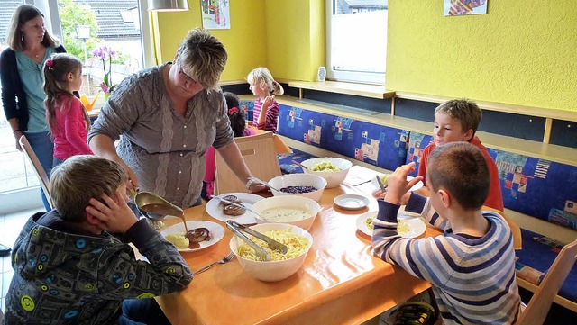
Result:
<svg viewBox="0 0 577 325">
<path fill-rule="evenodd" d="M 275 95 L 282 95 L 285 90 L 272 78 L 267 68 L 255 68 L 246 77 L 251 85 L 252 94 L 257 96 L 252 111 L 252 125 L 257 129 L 276 133 L 279 120 L 279 103 Z"/>
</svg>

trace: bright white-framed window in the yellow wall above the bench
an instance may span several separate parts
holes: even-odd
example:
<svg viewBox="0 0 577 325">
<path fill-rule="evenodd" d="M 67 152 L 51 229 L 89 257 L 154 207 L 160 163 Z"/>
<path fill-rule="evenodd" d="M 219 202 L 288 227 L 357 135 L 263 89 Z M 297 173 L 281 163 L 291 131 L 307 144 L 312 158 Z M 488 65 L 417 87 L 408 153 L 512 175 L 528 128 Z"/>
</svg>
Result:
<svg viewBox="0 0 577 325">
<path fill-rule="evenodd" d="M 387 0 L 326 0 L 327 75 L 384 84 Z"/>
</svg>

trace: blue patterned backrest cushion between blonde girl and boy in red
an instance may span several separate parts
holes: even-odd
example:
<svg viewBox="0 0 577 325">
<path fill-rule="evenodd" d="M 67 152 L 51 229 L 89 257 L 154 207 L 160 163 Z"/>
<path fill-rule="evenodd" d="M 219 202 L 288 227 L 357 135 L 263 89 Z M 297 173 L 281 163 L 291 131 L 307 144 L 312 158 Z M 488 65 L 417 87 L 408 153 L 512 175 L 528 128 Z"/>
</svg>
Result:
<svg viewBox="0 0 577 325">
<path fill-rule="evenodd" d="M 279 134 L 389 170 L 407 156 L 408 131 L 284 104 Z"/>
</svg>

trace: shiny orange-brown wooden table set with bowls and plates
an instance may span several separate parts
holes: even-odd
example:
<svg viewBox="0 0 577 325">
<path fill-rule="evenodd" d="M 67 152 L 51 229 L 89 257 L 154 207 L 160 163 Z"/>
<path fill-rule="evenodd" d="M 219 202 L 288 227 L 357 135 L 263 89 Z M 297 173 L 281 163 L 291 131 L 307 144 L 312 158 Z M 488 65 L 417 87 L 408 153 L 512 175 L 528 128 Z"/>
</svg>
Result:
<svg viewBox="0 0 577 325">
<path fill-rule="evenodd" d="M 172 324 L 358 324 L 425 291 L 430 285 L 373 257 L 371 239 L 357 230 L 356 219 L 369 207 L 348 212 L 334 205 L 340 194 L 371 197 L 371 184 L 353 187 L 376 172 L 353 167 L 342 185 L 325 189 L 310 229 L 314 243 L 295 275 L 265 283 L 243 273 L 238 261 L 217 265 L 195 276 L 179 293 L 157 297 Z M 185 212 L 188 221 L 216 221 L 205 206 Z M 178 222 L 167 220 L 167 224 Z M 426 236 L 439 232 L 427 228 Z M 230 252 L 232 232 L 210 248 L 184 253 L 193 272 Z"/>
</svg>

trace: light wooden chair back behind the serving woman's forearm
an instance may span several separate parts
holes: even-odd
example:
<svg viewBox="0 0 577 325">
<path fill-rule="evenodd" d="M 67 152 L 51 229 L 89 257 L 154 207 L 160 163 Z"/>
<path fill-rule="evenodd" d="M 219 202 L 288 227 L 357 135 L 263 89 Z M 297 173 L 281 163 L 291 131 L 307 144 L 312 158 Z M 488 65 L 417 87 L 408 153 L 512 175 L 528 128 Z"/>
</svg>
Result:
<svg viewBox="0 0 577 325">
<path fill-rule="evenodd" d="M 248 137 L 234 138 L 238 149 L 241 150 L 246 166 L 252 176 L 263 181 L 281 175 L 279 159 L 275 151 L 271 131 Z M 215 195 L 234 192 L 248 192 L 243 182 L 226 165 L 224 158 L 215 150 L 216 174 Z"/>
</svg>

